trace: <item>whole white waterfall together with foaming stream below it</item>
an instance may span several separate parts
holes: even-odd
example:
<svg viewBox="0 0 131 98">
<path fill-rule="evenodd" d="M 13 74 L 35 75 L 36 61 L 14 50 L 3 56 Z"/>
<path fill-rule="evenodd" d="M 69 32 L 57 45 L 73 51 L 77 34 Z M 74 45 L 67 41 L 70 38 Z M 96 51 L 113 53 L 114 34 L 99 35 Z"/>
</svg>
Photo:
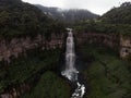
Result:
<svg viewBox="0 0 131 98">
<path fill-rule="evenodd" d="M 75 69 L 75 51 L 74 51 L 74 39 L 71 28 L 67 28 L 68 37 L 67 37 L 67 48 L 66 48 L 66 70 L 61 72 L 63 76 L 66 76 L 69 81 L 75 82 L 78 87 L 72 94 L 71 98 L 83 98 L 85 94 L 85 86 L 80 84 L 78 76 L 79 71 Z"/>
</svg>

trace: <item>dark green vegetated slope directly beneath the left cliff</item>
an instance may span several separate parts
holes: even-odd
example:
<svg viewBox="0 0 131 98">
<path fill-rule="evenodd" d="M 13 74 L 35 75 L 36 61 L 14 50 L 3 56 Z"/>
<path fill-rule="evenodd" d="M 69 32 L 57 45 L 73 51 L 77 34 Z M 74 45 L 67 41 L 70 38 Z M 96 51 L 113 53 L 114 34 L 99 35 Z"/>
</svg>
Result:
<svg viewBox="0 0 131 98">
<path fill-rule="evenodd" d="M 51 57 L 50 57 L 51 56 Z M 9 65 L 2 64 L 0 69 L 0 93 L 7 87 L 13 87 L 24 82 L 29 83 L 39 73 L 57 68 L 60 50 L 29 50 L 27 57 L 21 56 L 12 60 Z"/>
</svg>

